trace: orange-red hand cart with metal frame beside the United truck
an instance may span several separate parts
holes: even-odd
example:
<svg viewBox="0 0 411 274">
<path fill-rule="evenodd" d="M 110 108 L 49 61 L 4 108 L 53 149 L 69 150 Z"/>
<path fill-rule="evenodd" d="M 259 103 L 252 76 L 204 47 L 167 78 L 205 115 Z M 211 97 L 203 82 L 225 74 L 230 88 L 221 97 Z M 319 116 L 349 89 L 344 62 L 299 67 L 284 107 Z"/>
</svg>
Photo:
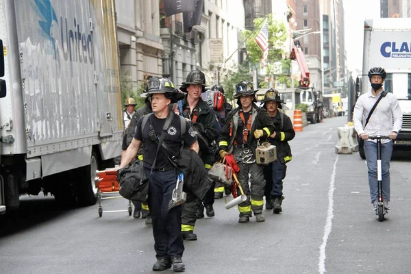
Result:
<svg viewBox="0 0 411 274">
<path fill-rule="evenodd" d="M 95 177 L 95 184 L 97 188 L 97 203 L 99 216 L 103 216 L 103 213 L 114 212 L 128 212 L 129 216 L 132 215 L 132 201 L 128 201 L 127 210 L 106 210 L 103 211 L 103 205 L 101 200 L 123 198 L 119 194 L 119 182 L 117 182 L 117 169 L 105 169 L 104 171 L 96 171 L 97 177 Z M 116 195 L 114 195 L 116 194 Z M 114 196 L 113 196 L 114 195 Z"/>
</svg>

